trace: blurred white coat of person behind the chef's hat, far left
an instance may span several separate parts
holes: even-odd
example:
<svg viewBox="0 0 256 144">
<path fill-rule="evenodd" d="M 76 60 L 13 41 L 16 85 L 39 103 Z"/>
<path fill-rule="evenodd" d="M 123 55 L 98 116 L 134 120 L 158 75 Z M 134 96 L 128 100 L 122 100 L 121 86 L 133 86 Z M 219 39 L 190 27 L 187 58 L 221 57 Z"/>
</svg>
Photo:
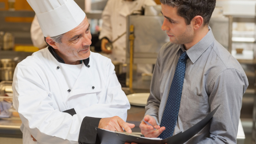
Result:
<svg viewBox="0 0 256 144">
<path fill-rule="evenodd" d="M 37 16 L 34 17 L 31 23 L 30 36 L 31 36 L 32 43 L 35 47 L 42 49 L 47 46 L 45 42 L 45 37 L 38 23 Z"/>
</svg>

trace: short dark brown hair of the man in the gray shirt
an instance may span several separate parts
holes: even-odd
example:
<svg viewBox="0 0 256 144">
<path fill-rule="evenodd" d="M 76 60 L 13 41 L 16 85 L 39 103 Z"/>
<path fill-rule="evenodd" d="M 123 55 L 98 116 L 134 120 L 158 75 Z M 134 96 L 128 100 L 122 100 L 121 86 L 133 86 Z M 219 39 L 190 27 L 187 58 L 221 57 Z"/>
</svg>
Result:
<svg viewBox="0 0 256 144">
<path fill-rule="evenodd" d="M 202 16 L 204 26 L 209 24 L 216 0 L 160 0 L 162 4 L 177 7 L 177 14 L 185 19 L 187 25 L 195 16 Z"/>
</svg>

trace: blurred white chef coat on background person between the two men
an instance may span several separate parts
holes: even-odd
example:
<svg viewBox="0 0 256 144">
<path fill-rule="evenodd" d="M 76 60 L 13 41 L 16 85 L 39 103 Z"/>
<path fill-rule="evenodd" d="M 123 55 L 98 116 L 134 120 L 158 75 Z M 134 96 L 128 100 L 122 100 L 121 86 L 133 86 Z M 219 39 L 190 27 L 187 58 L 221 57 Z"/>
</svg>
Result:
<svg viewBox="0 0 256 144">
<path fill-rule="evenodd" d="M 136 10 L 141 10 L 142 6 L 145 5 L 156 5 L 156 3 L 153 0 L 108 0 L 102 12 L 103 23 L 99 39 L 107 37 L 110 41 L 113 41 L 118 38 L 127 30 L 126 17 Z M 112 61 L 126 62 L 126 34 L 113 43 L 110 58 Z M 138 66 L 138 68 L 142 67 Z M 147 65 L 143 69 L 144 72 L 151 72 L 152 65 Z"/>
</svg>

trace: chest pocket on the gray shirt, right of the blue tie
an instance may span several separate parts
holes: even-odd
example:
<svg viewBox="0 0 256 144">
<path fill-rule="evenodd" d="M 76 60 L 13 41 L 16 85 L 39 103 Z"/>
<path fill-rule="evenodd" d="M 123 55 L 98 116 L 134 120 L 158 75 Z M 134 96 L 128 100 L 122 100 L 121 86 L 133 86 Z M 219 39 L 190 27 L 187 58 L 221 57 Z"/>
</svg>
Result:
<svg viewBox="0 0 256 144">
<path fill-rule="evenodd" d="M 208 96 L 198 96 L 189 89 L 181 96 L 179 117 L 181 121 L 196 124 L 206 117 L 210 110 Z"/>
</svg>

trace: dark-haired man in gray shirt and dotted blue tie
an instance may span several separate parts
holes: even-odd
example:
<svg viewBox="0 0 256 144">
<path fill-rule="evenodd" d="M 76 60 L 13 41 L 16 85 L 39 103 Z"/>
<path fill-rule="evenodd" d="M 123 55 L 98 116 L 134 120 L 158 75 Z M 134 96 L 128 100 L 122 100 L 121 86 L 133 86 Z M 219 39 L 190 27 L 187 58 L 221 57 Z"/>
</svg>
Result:
<svg viewBox="0 0 256 144">
<path fill-rule="evenodd" d="M 248 79 L 238 61 L 215 40 L 208 26 L 216 0 L 160 1 L 165 17 L 162 30 L 166 31 L 170 42 L 158 53 L 144 117 L 158 130 L 142 121 L 142 134 L 158 137 L 166 132 L 169 137 L 184 132 L 220 105 L 209 124 L 186 143 L 236 144 L 242 96 Z M 185 53 L 184 81 L 182 76 L 179 79 L 183 86 L 177 89 L 181 94 L 179 98 L 174 95 L 169 103 L 168 99 L 175 93 L 171 85 L 176 73 L 181 73 L 176 71 L 176 66 L 178 68 L 178 60 Z M 175 99 L 177 109 L 172 108 L 176 105 Z M 173 130 L 166 131 L 167 126 L 162 125 L 164 117 L 169 120 L 168 113 L 176 110 Z"/>
</svg>

